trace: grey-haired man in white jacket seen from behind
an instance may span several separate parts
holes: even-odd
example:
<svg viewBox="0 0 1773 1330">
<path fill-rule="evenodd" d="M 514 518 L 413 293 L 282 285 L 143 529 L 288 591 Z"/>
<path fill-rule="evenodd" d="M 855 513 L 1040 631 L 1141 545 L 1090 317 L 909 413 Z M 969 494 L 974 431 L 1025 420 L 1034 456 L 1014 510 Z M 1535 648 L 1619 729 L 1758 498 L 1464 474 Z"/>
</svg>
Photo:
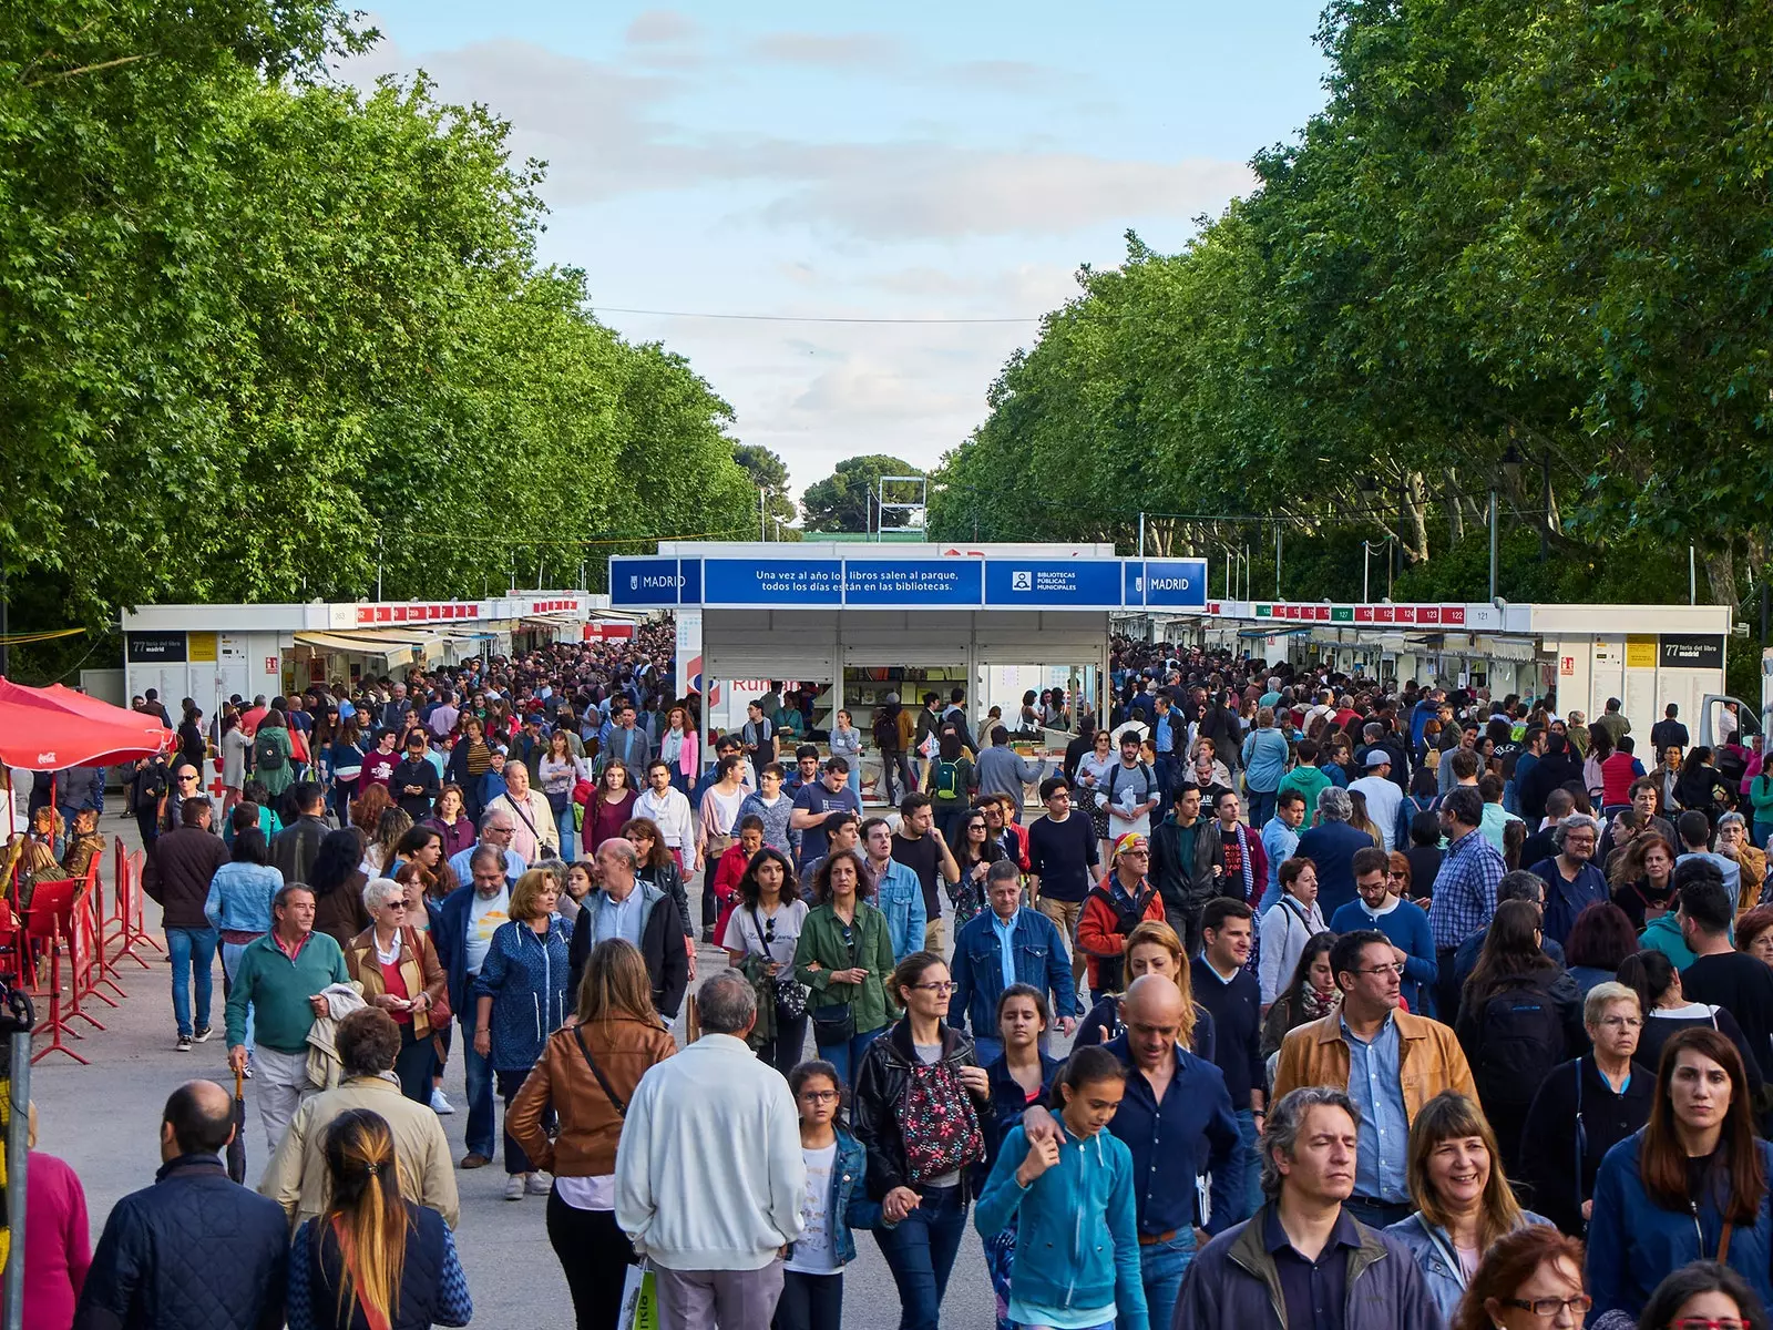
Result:
<svg viewBox="0 0 1773 1330">
<path fill-rule="evenodd" d="M 801 1231 L 800 1115 L 745 1043 L 750 981 L 722 970 L 693 1000 L 702 1037 L 640 1078 L 622 1119 L 615 1222 L 652 1263 L 661 1330 L 768 1330 Z"/>
</svg>

